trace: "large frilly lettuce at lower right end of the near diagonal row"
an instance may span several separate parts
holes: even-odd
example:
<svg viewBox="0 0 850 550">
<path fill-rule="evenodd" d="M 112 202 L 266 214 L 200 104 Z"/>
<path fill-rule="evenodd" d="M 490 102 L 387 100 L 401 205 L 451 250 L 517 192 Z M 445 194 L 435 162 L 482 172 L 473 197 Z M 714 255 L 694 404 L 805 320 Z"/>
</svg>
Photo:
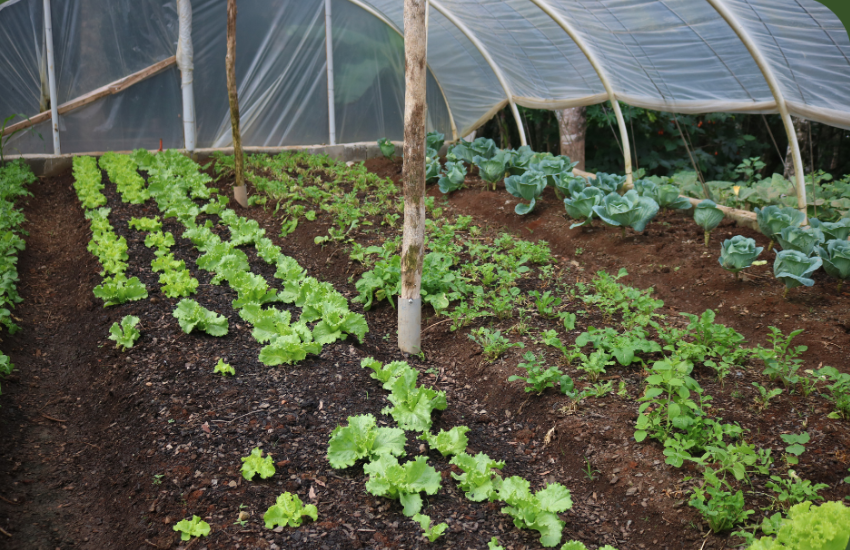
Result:
<svg viewBox="0 0 850 550">
<path fill-rule="evenodd" d="M 532 494 L 530 483 L 521 477 L 505 479 L 499 487 L 499 499 L 508 506 L 502 513 L 511 516 L 517 529 L 540 532 L 540 544 L 551 548 L 561 542 L 566 522 L 558 514 L 572 508 L 570 491 L 560 483 L 550 483 Z"/>
</svg>

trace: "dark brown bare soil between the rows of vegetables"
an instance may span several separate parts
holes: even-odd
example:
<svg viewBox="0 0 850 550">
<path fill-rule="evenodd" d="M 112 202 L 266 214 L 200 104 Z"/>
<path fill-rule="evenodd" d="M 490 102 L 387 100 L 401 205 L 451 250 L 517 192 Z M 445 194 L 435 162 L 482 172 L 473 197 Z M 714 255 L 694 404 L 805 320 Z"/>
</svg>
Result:
<svg viewBox="0 0 850 550">
<path fill-rule="evenodd" d="M 381 175 L 399 177 L 400 164 L 368 165 Z M 402 358 L 394 341 L 396 313 L 386 302 L 367 312 L 370 332 L 362 345 L 338 342 L 294 367 L 265 367 L 257 361 L 261 345 L 231 307 L 235 294 L 227 286 L 209 284 L 209 274 L 195 266 L 197 251 L 179 238 L 176 222 L 167 220 L 164 229 L 177 238 L 176 256 L 186 260 L 201 283 L 193 298 L 230 321 L 223 338 L 186 335 L 171 315 L 177 300 L 158 290 L 157 275 L 150 271 L 153 255 L 143 235 L 126 223 L 132 216 L 155 214 L 155 206 L 123 204 L 108 184 L 110 221 L 130 246 L 128 276 L 145 282 L 150 298 L 104 309 L 91 293 L 100 281 L 99 266 L 86 251 L 88 223 L 70 183 L 67 175 L 39 182 L 25 210 L 30 236 L 20 260 L 24 303 L 15 311 L 23 330 L 3 335 L 0 342 L 19 370 L 3 382 L 0 397 L 0 527 L 11 535 L 0 533 L 0 546 L 479 549 L 498 536 L 506 548 L 539 547 L 536 533 L 515 529 L 498 505 L 463 498 L 448 477 L 447 461 L 437 453 L 429 453 L 429 462 L 446 479 L 440 492 L 427 499 L 423 513 L 447 522 L 449 531 L 434 544 L 423 541 L 418 525 L 401 514 L 397 502 L 366 493 L 360 464 L 343 471 L 329 468 L 325 453 L 330 432 L 349 415 L 369 412 L 391 422 L 380 414 L 386 392 L 359 366 L 367 356 Z M 441 197 L 435 189 L 429 193 Z M 785 333 L 805 328 L 795 342 L 809 346 L 806 368 L 822 363 L 850 371 L 850 299 L 837 293 L 832 281 L 818 276 L 813 288 L 794 289 L 786 301 L 770 265 L 754 269 L 748 281 L 735 280 L 717 265 L 719 242 L 733 234 L 766 245 L 754 232 L 724 223 L 705 249 L 701 230 L 692 221 L 662 214 L 644 234 L 630 232 L 624 240 L 619 231 L 569 231 L 570 222 L 548 194 L 524 218 L 513 213 L 514 204 L 504 191 L 472 188 L 455 193 L 447 213 L 471 214 L 490 232 L 508 230 L 548 241 L 571 282 L 588 281 L 600 269 L 626 267 L 630 276 L 625 282 L 654 286 L 671 317 L 712 308 L 718 322 L 744 334 L 751 345 L 765 343 L 769 325 Z M 341 247 L 313 243 L 314 236 L 327 232 L 323 215 L 313 223 L 302 219 L 295 233 L 279 238 L 280 222 L 271 211 L 239 213 L 260 221 L 310 275 L 331 281 L 349 298 L 356 295 L 349 278 L 362 268 L 349 262 Z M 361 233 L 354 238 L 366 244 L 377 237 Z M 245 251 L 253 270 L 272 282 L 271 268 L 253 249 Z M 567 307 L 583 309 L 583 304 Z M 362 311 L 357 304 L 352 309 Z M 107 331 L 127 314 L 141 318 L 142 337 L 131 350 L 119 353 Z M 611 394 L 587 400 L 574 414 L 561 413 L 566 399 L 552 390 L 529 397 L 519 382 L 506 382 L 519 372 L 519 352 L 486 364 L 480 348 L 467 338 L 468 329 L 451 332 L 440 321 L 424 321 L 425 360 L 407 358 L 422 372 L 420 382 L 447 392 L 449 407 L 435 415 L 434 429 L 469 425 L 470 449 L 505 460 L 505 475 L 523 476 L 534 489 L 547 481 L 566 485 L 574 506 L 562 516 L 565 541 L 579 539 L 590 548 L 608 543 L 620 550 L 719 550 L 730 545 L 729 539 L 713 535 L 704 541 L 706 529 L 686 505 L 690 483 L 682 482 L 693 471 L 664 464 L 657 443 L 635 443 L 639 369 L 609 369 L 615 384 L 627 382 L 630 399 Z M 546 323 L 532 318 L 532 333 Z M 601 323 L 593 314 L 581 317 L 571 338 Z M 506 330 L 512 324 L 500 327 Z M 551 348 L 534 349 L 557 360 Z M 213 374 L 220 357 L 236 368 L 234 378 Z M 579 379 L 576 372 L 570 374 Z M 709 372 L 697 377 L 714 396 L 717 415 L 740 422 L 757 446 L 773 448 L 777 464 L 782 448 L 778 435 L 808 431 L 812 442 L 798 473 L 828 483 L 822 493 L 828 499 L 848 494 L 841 479 L 850 467 L 850 430 L 846 421 L 826 419 L 828 403 L 786 392 L 760 414 L 751 407 L 755 390 L 750 384 L 766 384 L 759 365 L 734 373 L 723 387 Z M 274 456 L 277 474 L 246 482 L 239 459 L 255 446 Z M 410 455 L 422 452 L 413 437 L 407 450 Z M 586 475 L 582 470 L 587 465 L 597 473 Z M 756 490 L 764 492 L 762 482 Z M 319 521 L 266 530 L 262 515 L 283 491 L 316 504 Z M 765 506 L 767 500 L 748 496 L 748 503 Z M 251 514 L 245 525 L 235 523 L 241 510 Z M 211 534 L 181 543 L 172 526 L 193 514 L 210 523 Z"/>
</svg>

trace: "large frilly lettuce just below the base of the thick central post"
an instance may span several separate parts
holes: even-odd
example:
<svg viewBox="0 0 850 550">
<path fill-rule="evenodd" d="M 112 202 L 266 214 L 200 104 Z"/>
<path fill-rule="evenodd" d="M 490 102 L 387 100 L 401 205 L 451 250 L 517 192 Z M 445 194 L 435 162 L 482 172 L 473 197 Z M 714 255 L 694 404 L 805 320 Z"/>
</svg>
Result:
<svg viewBox="0 0 850 550">
<path fill-rule="evenodd" d="M 418 376 L 418 371 L 405 370 L 387 396 L 393 406 L 385 407 L 381 413 L 392 416 L 402 429 L 424 432 L 431 429 L 431 412 L 446 409 L 446 392 L 417 386 Z"/>
</svg>

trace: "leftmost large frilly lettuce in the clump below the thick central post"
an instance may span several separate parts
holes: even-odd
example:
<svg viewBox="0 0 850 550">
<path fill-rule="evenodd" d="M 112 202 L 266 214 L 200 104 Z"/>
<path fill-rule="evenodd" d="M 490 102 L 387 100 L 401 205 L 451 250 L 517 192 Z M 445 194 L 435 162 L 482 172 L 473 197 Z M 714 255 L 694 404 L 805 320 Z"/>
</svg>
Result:
<svg viewBox="0 0 850 550">
<path fill-rule="evenodd" d="M 382 455 L 404 456 L 404 430 L 376 428 L 371 414 L 349 416 L 348 426 L 337 426 L 328 442 L 331 468 L 353 466 L 360 459 L 374 460 Z"/>
</svg>

